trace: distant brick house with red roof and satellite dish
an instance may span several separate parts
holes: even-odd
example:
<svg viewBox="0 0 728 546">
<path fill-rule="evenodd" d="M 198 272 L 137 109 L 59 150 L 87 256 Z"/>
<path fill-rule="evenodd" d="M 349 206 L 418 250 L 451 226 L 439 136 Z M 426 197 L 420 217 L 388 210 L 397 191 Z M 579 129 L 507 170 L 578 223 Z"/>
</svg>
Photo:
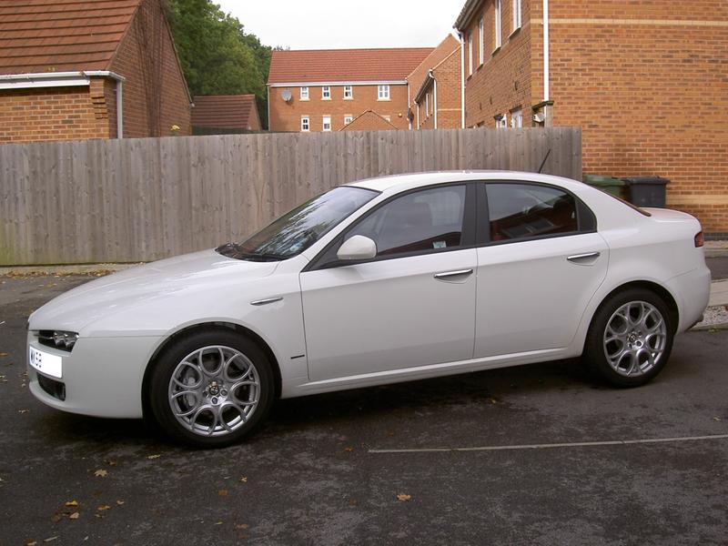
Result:
<svg viewBox="0 0 728 546">
<path fill-rule="evenodd" d="M 371 110 L 408 128 L 407 76 L 431 47 L 274 51 L 268 74 L 271 131 L 338 131 Z"/>
</svg>

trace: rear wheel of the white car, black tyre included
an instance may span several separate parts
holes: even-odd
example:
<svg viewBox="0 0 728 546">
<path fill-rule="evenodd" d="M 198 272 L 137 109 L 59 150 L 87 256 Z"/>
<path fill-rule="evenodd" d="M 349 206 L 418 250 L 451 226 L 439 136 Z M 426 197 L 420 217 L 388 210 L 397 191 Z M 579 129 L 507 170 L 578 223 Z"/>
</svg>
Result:
<svg viewBox="0 0 728 546">
<path fill-rule="evenodd" d="M 622 314 L 617 315 L 617 311 Z M 635 322 L 623 319 L 625 315 Z M 613 335 L 615 331 L 621 333 L 622 326 L 624 339 Z M 587 333 L 583 359 L 595 375 L 611 385 L 639 387 L 654 379 L 667 364 L 674 332 L 672 314 L 662 298 L 645 288 L 628 288 L 604 300 L 597 309 Z"/>
</svg>

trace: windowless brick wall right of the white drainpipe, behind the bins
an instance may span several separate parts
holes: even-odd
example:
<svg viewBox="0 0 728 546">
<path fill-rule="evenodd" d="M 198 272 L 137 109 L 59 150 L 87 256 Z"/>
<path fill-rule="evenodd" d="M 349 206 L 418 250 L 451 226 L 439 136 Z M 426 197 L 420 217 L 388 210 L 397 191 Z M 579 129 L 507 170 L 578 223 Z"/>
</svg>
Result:
<svg viewBox="0 0 728 546">
<path fill-rule="evenodd" d="M 585 173 L 660 175 L 668 206 L 728 232 L 728 4 L 551 4 L 553 122 Z M 605 20 L 609 19 L 609 20 Z"/>
</svg>

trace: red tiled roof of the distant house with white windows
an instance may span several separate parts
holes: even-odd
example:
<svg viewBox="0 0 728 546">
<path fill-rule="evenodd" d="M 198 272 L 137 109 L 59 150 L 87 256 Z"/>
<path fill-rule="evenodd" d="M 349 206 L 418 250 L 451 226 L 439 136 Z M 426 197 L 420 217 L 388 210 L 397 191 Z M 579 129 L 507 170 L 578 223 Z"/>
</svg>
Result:
<svg viewBox="0 0 728 546">
<path fill-rule="evenodd" d="M 268 84 L 404 80 L 432 47 L 274 51 Z"/>
</svg>

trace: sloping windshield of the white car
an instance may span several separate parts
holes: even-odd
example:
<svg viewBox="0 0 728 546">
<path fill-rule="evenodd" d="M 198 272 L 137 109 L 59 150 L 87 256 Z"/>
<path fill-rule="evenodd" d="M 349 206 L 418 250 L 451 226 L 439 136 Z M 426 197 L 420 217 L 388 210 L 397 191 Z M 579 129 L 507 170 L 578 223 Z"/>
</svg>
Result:
<svg viewBox="0 0 728 546">
<path fill-rule="evenodd" d="M 248 240 L 227 243 L 216 250 L 230 258 L 256 261 L 292 258 L 377 194 L 361 187 L 335 187 L 279 217 Z"/>
</svg>

